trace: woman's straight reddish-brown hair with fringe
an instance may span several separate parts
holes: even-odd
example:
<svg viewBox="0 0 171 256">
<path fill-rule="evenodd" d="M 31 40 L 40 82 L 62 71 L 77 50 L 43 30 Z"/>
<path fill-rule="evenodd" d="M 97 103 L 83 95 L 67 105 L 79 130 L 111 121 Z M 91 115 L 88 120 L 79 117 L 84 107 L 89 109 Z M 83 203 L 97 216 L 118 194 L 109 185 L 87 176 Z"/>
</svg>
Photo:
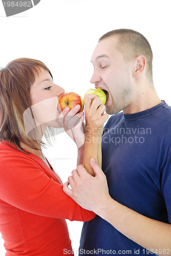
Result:
<svg viewBox="0 0 171 256">
<path fill-rule="evenodd" d="M 41 68 L 52 77 L 43 62 L 31 58 L 15 59 L 0 70 L 0 142 L 8 141 L 22 152 L 25 151 L 20 147 L 20 142 L 38 149 L 36 139 L 30 139 L 26 134 L 23 114 L 28 108 L 31 109 L 31 86 Z M 44 144 L 41 141 L 41 145 Z"/>
</svg>

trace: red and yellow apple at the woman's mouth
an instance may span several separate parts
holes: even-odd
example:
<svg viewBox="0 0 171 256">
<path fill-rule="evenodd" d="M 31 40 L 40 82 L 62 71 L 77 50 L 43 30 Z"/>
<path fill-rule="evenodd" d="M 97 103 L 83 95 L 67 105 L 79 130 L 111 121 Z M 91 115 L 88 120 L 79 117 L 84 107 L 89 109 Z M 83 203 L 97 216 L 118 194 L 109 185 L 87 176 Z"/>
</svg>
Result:
<svg viewBox="0 0 171 256">
<path fill-rule="evenodd" d="M 71 110 L 76 105 L 80 105 L 80 109 L 79 109 L 78 113 L 83 111 L 83 109 L 84 109 L 83 99 L 81 99 L 81 97 L 77 93 L 74 93 L 74 92 L 63 93 L 59 98 L 59 105 L 60 105 L 61 111 L 63 111 L 63 109 L 65 109 L 67 106 Z"/>
</svg>

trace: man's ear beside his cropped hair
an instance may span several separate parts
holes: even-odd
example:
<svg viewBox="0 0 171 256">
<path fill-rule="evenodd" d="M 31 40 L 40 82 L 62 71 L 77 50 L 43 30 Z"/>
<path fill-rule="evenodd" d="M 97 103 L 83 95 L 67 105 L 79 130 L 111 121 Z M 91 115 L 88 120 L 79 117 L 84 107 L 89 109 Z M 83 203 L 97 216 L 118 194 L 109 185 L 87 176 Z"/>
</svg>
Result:
<svg viewBox="0 0 171 256">
<path fill-rule="evenodd" d="M 135 58 L 133 77 L 138 78 L 144 73 L 146 67 L 146 59 L 144 56 L 140 55 Z"/>
</svg>

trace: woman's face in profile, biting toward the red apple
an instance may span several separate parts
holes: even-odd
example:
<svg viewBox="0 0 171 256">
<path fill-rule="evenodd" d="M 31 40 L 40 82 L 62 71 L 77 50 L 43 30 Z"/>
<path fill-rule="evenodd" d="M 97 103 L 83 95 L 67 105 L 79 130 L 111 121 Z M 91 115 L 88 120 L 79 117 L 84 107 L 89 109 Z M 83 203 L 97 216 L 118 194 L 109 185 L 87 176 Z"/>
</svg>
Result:
<svg viewBox="0 0 171 256">
<path fill-rule="evenodd" d="M 41 68 L 39 75 L 35 75 L 35 82 L 31 87 L 32 111 L 36 125 L 42 127 L 61 127 L 57 119 L 59 112 L 57 104 L 60 95 L 65 91 L 57 86 L 48 71 Z"/>
</svg>

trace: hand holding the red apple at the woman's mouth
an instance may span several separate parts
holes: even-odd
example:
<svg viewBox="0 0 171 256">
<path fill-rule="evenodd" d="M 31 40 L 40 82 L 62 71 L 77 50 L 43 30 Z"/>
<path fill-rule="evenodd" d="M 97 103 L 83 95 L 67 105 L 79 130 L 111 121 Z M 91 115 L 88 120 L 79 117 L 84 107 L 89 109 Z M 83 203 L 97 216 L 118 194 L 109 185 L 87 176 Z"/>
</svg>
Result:
<svg viewBox="0 0 171 256">
<path fill-rule="evenodd" d="M 77 147 L 81 147 L 85 141 L 85 124 L 84 113 L 78 112 L 80 105 L 74 106 L 71 110 L 65 108 L 58 117 L 58 123 L 65 129 L 66 133 L 77 144 Z"/>
</svg>

